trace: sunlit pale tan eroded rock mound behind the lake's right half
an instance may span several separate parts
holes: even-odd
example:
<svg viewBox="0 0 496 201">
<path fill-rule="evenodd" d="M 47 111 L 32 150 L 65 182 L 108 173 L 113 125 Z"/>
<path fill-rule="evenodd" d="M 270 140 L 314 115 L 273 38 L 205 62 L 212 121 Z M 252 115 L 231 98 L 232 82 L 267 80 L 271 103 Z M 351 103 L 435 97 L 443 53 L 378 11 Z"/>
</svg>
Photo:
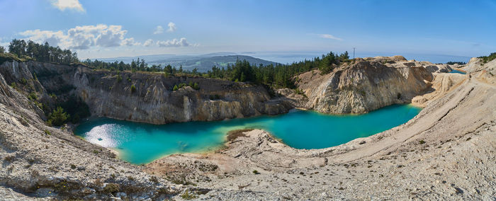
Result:
<svg viewBox="0 0 496 201">
<path fill-rule="evenodd" d="M 422 62 L 395 56 L 356 59 L 325 75 L 309 71 L 298 76 L 296 86 L 308 96 L 305 108 L 322 113 L 366 113 L 410 103 L 429 90 L 432 79 Z"/>
</svg>

